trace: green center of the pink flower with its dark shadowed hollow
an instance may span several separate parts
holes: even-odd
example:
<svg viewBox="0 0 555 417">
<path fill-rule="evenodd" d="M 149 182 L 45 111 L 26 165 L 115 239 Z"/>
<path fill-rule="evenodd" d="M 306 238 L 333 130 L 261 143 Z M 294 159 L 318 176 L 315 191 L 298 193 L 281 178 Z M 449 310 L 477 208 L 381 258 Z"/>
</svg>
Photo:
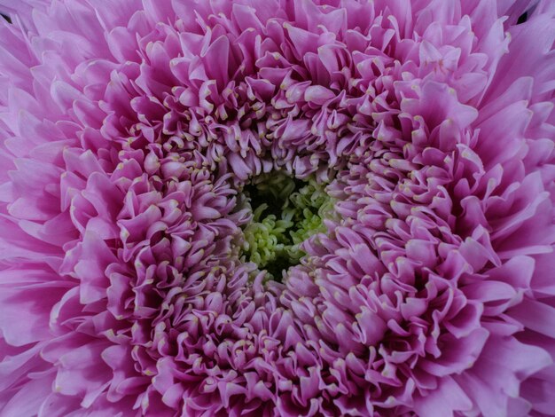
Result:
<svg viewBox="0 0 555 417">
<path fill-rule="evenodd" d="M 244 260 L 268 271 L 271 279 L 281 279 L 284 270 L 299 264 L 305 255 L 301 243 L 324 232 L 323 219 L 332 211 L 324 186 L 280 172 L 255 177 L 244 190 L 253 209 L 243 230 Z"/>
</svg>

